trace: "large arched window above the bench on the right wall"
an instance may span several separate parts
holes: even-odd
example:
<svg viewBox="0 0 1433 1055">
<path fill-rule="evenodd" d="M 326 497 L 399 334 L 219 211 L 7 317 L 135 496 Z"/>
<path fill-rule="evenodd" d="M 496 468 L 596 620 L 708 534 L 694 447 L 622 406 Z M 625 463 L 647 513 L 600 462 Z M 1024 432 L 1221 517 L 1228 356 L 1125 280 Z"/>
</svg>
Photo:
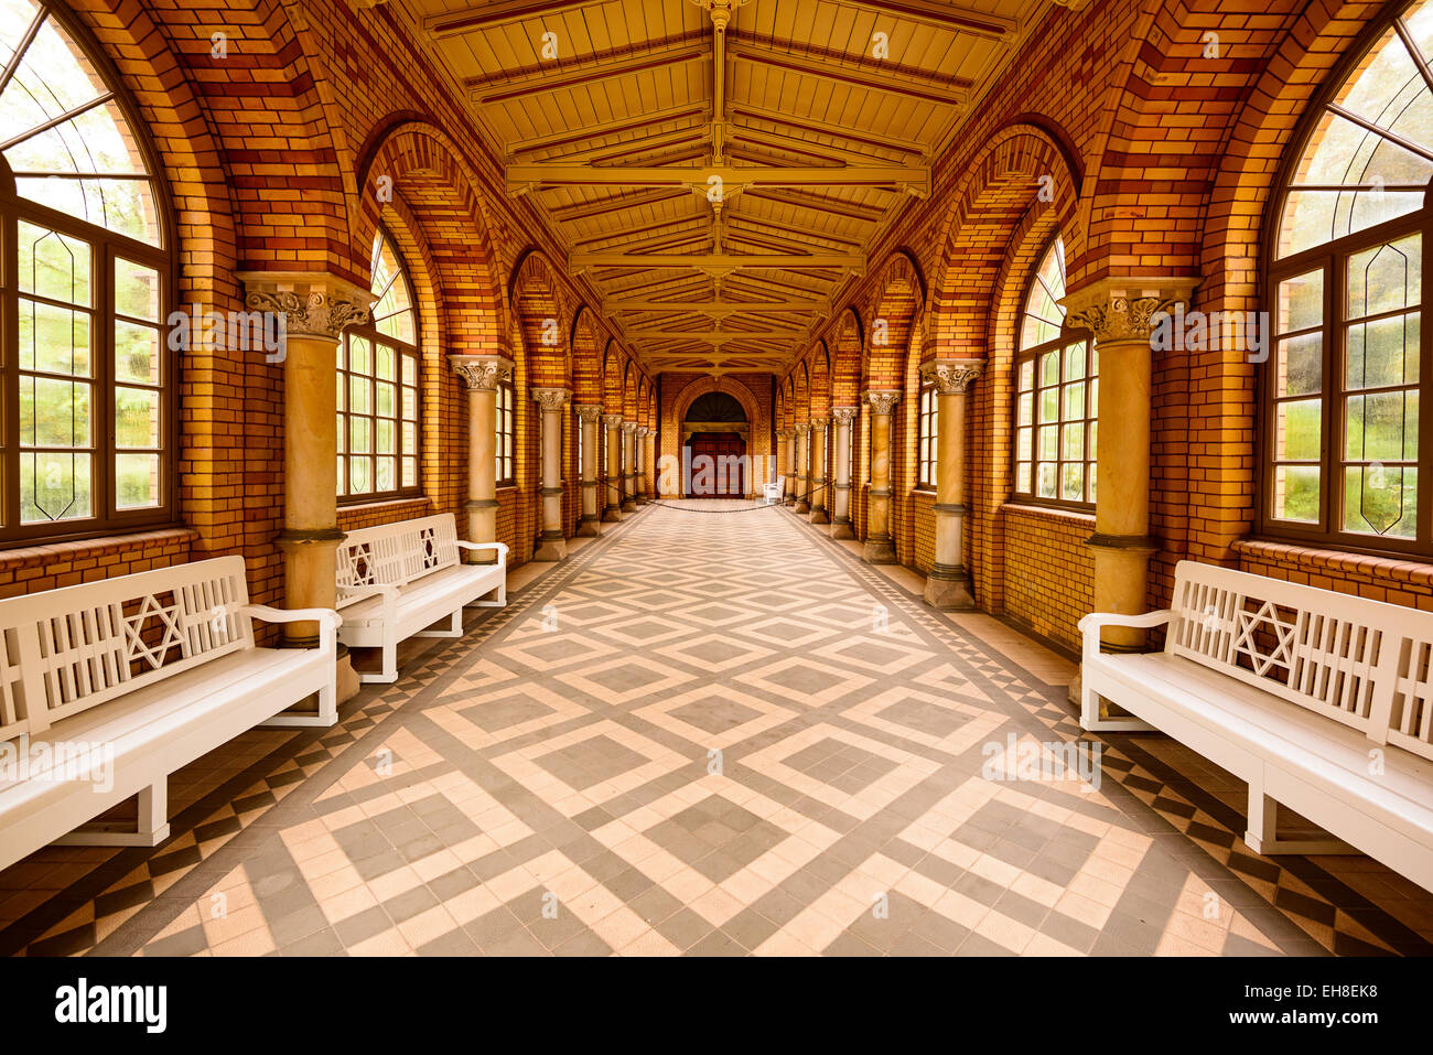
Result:
<svg viewBox="0 0 1433 1055">
<path fill-rule="evenodd" d="M 1433 211 L 1433 3 L 1346 56 L 1285 159 L 1270 231 L 1261 528 L 1433 553 L 1423 247 Z M 1268 345 L 1265 345 L 1268 347 Z M 1424 486 L 1420 486 L 1424 484 Z"/>
</svg>

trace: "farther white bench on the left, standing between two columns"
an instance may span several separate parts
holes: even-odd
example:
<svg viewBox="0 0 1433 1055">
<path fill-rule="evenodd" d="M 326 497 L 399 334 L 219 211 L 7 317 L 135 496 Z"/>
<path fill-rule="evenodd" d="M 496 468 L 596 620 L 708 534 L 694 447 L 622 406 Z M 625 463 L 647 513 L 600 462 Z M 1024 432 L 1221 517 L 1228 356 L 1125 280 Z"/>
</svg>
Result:
<svg viewBox="0 0 1433 1055">
<path fill-rule="evenodd" d="M 464 565 L 460 552 L 492 550 L 496 562 Z M 481 598 L 493 593 L 489 601 Z M 338 546 L 338 639 L 350 648 L 383 649 L 378 672 L 360 681 L 398 679 L 398 642 L 463 636 L 463 606 L 507 603 L 507 546 L 464 542 L 451 513 L 348 532 Z M 447 619 L 444 629 L 428 629 Z"/>
</svg>

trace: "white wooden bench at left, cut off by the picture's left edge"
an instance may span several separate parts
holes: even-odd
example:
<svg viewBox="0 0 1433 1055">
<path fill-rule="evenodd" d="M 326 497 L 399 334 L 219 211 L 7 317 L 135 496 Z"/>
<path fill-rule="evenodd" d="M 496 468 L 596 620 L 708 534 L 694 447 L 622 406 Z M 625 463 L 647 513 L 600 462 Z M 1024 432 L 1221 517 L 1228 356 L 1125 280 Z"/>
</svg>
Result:
<svg viewBox="0 0 1433 1055">
<path fill-rule="evenodd" d="M 315 621 L 320 646 L 258 648 L 254 619 Z M 332 725 L 338 622 L 249 605 L 241 556 L 0 601 L 0 869 L 53 841 L 158 846 L 169 774 L 254 725 Z M 129 798 L 135 823 L 80 827 Z"/>
</svg>

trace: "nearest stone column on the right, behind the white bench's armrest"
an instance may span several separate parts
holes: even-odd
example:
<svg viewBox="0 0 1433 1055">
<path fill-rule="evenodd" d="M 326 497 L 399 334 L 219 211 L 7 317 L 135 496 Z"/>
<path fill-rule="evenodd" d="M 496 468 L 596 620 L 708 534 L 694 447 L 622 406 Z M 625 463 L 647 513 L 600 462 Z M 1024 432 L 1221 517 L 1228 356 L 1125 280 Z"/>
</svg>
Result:
<svg viewBox="0 0 1433 1055">
<path fill-rule="evenodd" d="M 1154 315 L 1185 302 L 1194 278 L 1106 278 L 1065 297 L 1066 325 L 1089 330 L 1099 353 L 1099 487 L 1095 533 L 1096 612 L 1146 611 L 1149 558 L 1159 548 L 1149 535 L 1151 334 Z M 1145 631 L 1111 626 L 1106 646 L 1144 646 Z"/>
</svg>

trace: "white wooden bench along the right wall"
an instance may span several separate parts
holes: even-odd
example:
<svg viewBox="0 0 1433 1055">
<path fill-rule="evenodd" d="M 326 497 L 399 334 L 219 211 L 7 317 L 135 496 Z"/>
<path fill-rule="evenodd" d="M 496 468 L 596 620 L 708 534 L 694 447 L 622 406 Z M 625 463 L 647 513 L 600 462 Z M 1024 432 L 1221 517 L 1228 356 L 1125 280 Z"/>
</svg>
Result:
<svg viewBox="0 0 1433 1055">
<path fill-rule="evenodd" d="M 1165 624 L 1162 652 L 1101 652 Z M 1169 611 L 1080 629 L 1086 730 L 1154 727 L 1247 781 L 1255 853 L 1353 847 L 1433 890 L 1433 614 L 1184 560 Z M 1281 837 L 1280 804 L 1334 839 Z"/>
</svg>

